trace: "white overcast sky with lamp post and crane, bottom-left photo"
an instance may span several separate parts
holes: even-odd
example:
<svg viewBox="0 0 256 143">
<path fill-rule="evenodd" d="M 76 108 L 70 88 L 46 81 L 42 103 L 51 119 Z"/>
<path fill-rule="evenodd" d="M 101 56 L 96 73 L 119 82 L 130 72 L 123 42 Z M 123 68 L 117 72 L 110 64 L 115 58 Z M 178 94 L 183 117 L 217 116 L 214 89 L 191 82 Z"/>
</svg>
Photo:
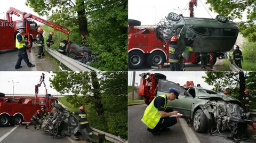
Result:
<svg viewBox="0 0 256 143">
<path fill-rule="evenodd" d="M 51 95 L 57 95 L 55 89 L 50 88 L 49 78 L 52 78 L 52 73 L 45 73 L 45 85 L 47 91 Z M 35 94 L 35 85 L 39 83 L 42 72 L 0 72 L 0 92 L 4 94 L 12 94 L 12 83 L 8 81 L 20 82 L 14 83 L 14 94 Z M 39 87 L 39 93 L 45 95 L 43 85 Z M 60 94 L 58 94 L 60 95 Z"/>
</svg>

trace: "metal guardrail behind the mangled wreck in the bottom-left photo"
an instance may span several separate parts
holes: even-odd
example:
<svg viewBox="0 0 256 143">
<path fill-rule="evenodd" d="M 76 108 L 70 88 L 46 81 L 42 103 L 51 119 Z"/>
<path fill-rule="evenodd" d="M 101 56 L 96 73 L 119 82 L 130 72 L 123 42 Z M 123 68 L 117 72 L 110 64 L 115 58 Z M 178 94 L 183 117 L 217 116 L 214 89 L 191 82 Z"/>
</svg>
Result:
<svg viewBox="0 0 256 143">
<path fill-rule="evenodd" d="M 65 105 L 63 105 L 62 103 L 60 103 L 60 101 L 59 101 L 58 104 L 60 104 L 60 105 L 63 106 L 64 108 L 67 108 Z M 95 128 L 92 128 L 92 127 L 90 127 L 90 128 L 92 129 L 92 132 L 93 132 L 96 136 L 98 136 L 99 134 L 105 134 L 105 139 L 108 140 L 108 141 L 115 142 L 115 143 L 127 143 L 127 142 L 128 142 L 128 141 L 123 140 L 123 139 L 120 138 L 120 137 L 114 136 L 113 134 L 110 134 L 110 133 L 107 133 L 107 132 L 103 132 L 103 131 L 101 131 L 101 130 L 98 130 L 98 129 L 95 129 Z"/>
</svg>

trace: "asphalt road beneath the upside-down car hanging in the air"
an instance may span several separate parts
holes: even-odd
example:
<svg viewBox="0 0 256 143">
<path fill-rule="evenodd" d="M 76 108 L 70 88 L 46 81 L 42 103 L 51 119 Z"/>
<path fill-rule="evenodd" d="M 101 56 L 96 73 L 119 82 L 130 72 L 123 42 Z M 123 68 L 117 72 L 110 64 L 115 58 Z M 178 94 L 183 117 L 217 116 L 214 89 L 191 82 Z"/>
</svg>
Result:
<svg viewBox="0 0 256 143">
<path fill-rule="evenodd" d="M 199 62 L 198 64 L 185 63 L 185 67 L 186 67 L 185 71 L 206 71 L 201 69 L 201 62 Z M 217 62 L 213 66 L 213 71 L 219 71 L 223 68 L 224 68 L 223 60 L 217 60 Z M 129 69 L 129 71 L 170 71 L 170 66 L 169 64 L 167 65 L 165 63 L 162 69 L 157 69 L 157 67 L 147 68 L 146 66 L 143 66 L 140 69 L 135 69 L 135 70 Z"/>
</svg>

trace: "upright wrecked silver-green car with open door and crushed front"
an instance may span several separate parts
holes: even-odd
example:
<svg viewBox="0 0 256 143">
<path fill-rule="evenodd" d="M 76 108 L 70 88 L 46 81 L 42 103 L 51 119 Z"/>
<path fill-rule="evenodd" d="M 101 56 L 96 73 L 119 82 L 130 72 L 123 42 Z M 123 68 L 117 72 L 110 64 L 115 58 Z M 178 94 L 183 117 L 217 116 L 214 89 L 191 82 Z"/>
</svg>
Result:
<svg viewBox="0 0 256 143">
<path fill-rule="evenodd" d="M 196 132 L 209 132 L 234 140 L 247 138 L 247 124 L 252 125 L 250 113 L 241 108 L 242 103 L 234 97 L 220 95 L 201 87 L 181 87 L 174 82 L 158 81 L 157 95 L 163 95 L 173 87 L 181 91 L 178 100 L 169 101 L 169 107 L 183 114 Z M 223 135 L 223 131 L 229 134 Z"/>
</svg>

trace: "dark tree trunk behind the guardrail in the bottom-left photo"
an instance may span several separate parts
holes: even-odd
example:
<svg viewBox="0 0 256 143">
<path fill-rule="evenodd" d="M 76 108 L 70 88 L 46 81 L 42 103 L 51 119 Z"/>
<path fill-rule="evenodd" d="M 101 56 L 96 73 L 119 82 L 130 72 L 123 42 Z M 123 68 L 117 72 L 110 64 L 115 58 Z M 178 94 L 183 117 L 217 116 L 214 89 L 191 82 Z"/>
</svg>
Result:
<svg viewBox="0 0 256 143">
<path fill-rule="evenodd" d="M 100 93 L 100 83 L 97 78 L 96 72 L 91 72 L 91 80 L 92 80 L 92 92 L 94 98 L 94 106 L 96 108 L 96 112 L 98 115 L 103 115 L 103 106 L 101 104 L 101 93 Z"/>
</svg>

